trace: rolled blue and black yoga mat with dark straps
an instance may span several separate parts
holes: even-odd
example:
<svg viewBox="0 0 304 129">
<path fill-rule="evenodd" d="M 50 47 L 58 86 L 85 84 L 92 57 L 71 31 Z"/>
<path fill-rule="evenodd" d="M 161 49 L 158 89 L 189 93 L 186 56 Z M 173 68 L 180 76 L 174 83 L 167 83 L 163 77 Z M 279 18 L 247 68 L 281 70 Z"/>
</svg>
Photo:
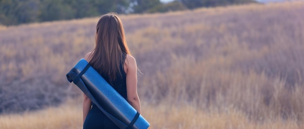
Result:
<svg viewBox="0 0 304 129">
<path fill-rule="evenodd" d="M 149 122 L 140 115 L 85 59 L 67 74 L 97 107 L 120 129 L 147 129 Z"/>
</svg>

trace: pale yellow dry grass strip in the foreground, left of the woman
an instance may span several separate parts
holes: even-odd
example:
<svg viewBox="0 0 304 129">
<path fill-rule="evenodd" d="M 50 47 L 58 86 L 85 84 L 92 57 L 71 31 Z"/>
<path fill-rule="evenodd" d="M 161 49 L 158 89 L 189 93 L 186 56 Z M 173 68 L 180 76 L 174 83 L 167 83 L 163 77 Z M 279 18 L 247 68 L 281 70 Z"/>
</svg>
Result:
<svg viewBox="0 0 304 129">
<path fill-rule="evenodd" d="M 81 109 L 69 103 L 37 112 L 1 115 L 0 129 L 81 129 Z"/>
</svg>

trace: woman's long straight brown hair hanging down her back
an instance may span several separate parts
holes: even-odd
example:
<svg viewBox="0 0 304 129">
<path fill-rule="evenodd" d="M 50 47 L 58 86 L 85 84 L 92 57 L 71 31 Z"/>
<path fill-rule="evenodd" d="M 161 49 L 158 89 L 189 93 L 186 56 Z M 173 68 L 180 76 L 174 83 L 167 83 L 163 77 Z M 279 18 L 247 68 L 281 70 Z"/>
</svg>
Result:
<svg viewBox="0 0 304 129">
<path fill-rule="evenodd" d="M 131 55 L 124 36 L 120 18 L 114 14 L 104 14 L 96 25 L 95 48 L 89 56 L 89 63 L 98 72 L 115 81 L 121 75 L 120 64 L 124 63 L 126 54 Z"/>
</svg>

